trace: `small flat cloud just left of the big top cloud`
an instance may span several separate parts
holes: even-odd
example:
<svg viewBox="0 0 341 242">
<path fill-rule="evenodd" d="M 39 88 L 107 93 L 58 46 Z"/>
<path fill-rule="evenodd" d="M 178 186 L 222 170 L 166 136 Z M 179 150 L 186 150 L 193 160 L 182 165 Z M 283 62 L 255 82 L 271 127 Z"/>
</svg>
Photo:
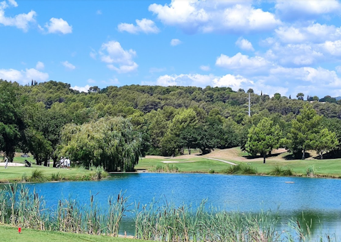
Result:
<svg viewBox="0 0 341 242">
<path fill-rule="evenodd" d="M 132 23 L 120 23 L 117 27 L 119 32 L 126 31 L 130 34 L 138 34 L 139 32 L 157 34 L 160 32 L 154 21 L 150 19 L 136 19 L 136 25 Z"/>
</svg>

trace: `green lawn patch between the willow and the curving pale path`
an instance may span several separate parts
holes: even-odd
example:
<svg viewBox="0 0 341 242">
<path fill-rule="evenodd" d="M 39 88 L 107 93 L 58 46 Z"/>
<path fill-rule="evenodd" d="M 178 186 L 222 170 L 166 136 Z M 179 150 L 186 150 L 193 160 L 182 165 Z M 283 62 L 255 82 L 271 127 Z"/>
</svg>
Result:
<svg viewBox="0 0 341 242">
<path fill-rule="evenodd" d="M 169 163 L 178 167 L 180 172 L 185 173 L 209 173 L 209 169 L 214 170 L 215 172 L 219 173 L 227 168 L 229 168 L 229 164 L 218 162 L 212 159 L 205 159 L 196 157 L 193 159 L 150 159 L 150 158 L 143 158 L 140 159 L 138 165 L 135 166 L 136 169 L 147 169 L 147 170 L 155 170 L 156 166 L 166 166 L 163 161 L 172 161 L 178 163 Z M 181 163 L 185 162 L 185 163 Z"/>
</svg>

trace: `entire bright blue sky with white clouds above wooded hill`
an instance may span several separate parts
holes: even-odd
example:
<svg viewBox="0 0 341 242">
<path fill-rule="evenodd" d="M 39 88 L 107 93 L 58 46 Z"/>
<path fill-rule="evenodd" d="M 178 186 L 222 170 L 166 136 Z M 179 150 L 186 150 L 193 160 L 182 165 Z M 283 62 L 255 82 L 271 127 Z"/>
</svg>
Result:
<svg viewBox="0 0 341 242">
<path fill-rule="evenodd" d="M 341 96 L 341 0 L 0 0 L 0 78 Z"/>
</svg>

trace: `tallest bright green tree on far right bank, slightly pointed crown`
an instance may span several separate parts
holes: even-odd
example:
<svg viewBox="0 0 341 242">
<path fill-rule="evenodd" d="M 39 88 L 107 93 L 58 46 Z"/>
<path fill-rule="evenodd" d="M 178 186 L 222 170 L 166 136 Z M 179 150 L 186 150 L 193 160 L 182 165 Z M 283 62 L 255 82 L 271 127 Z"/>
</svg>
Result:
<svg viewBox="0 0 341 242">
<path fill-rule="evenodd" d="M 305 151 L 313 148 L 313 142 L 318 139 L 322 116 L 318 115 L 310 104 L 300 109 L 296 119 L 291 120 L 291 129 L 287 135 L 287 149 L 298 156 L 302 153 L 305 158 Z"/>
</svg>

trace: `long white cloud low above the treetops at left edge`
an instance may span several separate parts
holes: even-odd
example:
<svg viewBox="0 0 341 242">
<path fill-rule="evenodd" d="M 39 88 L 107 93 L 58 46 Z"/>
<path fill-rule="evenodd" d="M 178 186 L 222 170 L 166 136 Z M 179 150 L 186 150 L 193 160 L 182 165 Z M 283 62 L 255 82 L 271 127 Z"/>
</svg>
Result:
<svg viewBox="0 0 341 242">
<path fill-rule="evenodd" d="M 39 72 L 37 69 L 30 68 L 25 70 L 17 70 L 17 69 L 0 69 L 0 79 L 3 80 L 12 80 L 13 82 L 27 84 L 32 79 L 37 81 L 46 81 L 48 80 L 48 74 L 44 72 Z"/>
</svg>

